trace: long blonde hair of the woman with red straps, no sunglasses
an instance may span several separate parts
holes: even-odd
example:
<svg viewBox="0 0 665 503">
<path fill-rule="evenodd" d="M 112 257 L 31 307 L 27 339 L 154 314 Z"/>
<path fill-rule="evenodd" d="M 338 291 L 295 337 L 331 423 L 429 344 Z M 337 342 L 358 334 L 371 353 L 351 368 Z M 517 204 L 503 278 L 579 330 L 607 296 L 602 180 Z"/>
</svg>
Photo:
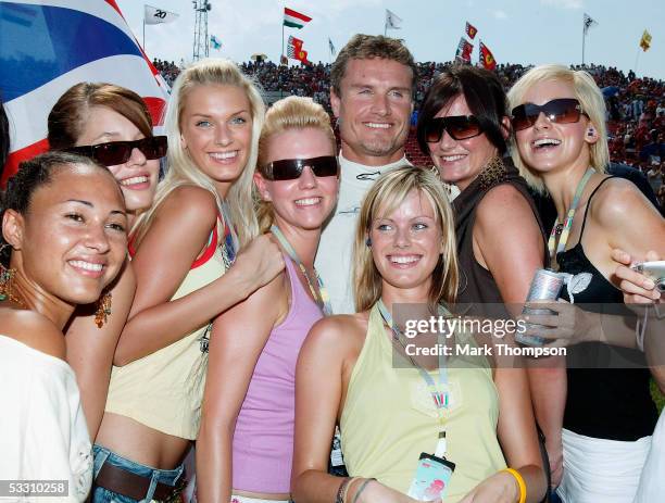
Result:
<svg viewBox="0 0 665 503">
<path fill-rule="evenodd" d="M 243 75 L 234 62 L 210 58 L 187 67 L 173 86 L 164 121 L 164 128 L 168 137 L 166 176 L 158 187 L 152 209 L 137 218 L 133 229 L 136 232 L 137 241 L 140 241 L 150 227 L 160 204 L 177 187 L 195 185 L 209 190 L 214 194 L 219 212 L 222 211 L 222 199 L 215 189 L 213 179 L 199 169 L 180 142 L 180 120 L 186 99 L 198 86 L 208 85 L 238 87 L 246 92 L 250 102 L 252 115 L 250 151 L 242 173 L 228 190 L 226 202 L 241 246 L 259 234 L 252 203 L 252 177 L 256 165 L 259 136 L 263 125 L 265 104 L 256 84 Z"/>
</svg>

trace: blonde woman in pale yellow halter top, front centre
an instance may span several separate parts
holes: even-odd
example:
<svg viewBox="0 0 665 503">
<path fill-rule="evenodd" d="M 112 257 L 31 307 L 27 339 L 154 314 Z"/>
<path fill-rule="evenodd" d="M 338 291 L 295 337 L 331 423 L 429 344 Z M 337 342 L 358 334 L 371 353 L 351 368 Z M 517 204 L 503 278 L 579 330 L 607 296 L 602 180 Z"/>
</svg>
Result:
<svg viewBox="0 0 665 503">
<path fill-rule="evenodd" d="M 436 313 L 434 306 L 454 301 L 453 232 L 448 199 L 428 171 L 397 168 L 367 193 L 354 249 L 357 314 L 318 322 L 299 357 L 294 501 L 417 501 L 406 494 L 414 495 L 421 453 L 455 464 L 449 479 L 432 478 L 428 490 L 439 492 L 425 495 L 440 495 L 427 500 L 536 503 L 543 498 L 547 482 L 524 369 L 497 368 L 492 375 L 484 359 L 441 365 L 437 356 L 413 355 L 413 348 L 391 342 L 401 334 L 389 328 L 397 327 L 396 304 Z M 401 362 L 409 363 L 397 365 Z M 437 366 L 439 372 L 426 370 Z M 338 422 L 352 478 L 326 471 Z"/>
</svg>

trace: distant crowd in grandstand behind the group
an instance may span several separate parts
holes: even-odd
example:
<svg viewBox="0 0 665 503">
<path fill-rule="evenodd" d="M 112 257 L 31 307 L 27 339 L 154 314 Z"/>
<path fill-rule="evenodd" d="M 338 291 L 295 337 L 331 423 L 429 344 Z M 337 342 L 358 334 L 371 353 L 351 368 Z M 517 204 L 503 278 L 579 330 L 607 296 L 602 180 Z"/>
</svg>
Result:
<svg viewBox="0 0 665 503">
<path fill-rule="evenodd" d="M 170 84 L 179 73 L 173 61 L 155 59 L 153 64 Z M 451 64 L 450 61 L 416 63 L 415 116 L 434 79 Z M 507 90 L 531 66 L 505 63 L 498 65 L 495 73 Z M 241 65 L 242 71 L 253 75 L 263 90 L 281 91 L 285 97 L 311 97 L 329 113 L 330 67 L 330 64 L 322 62 L 287 66 L 271 61 L 249 61 Z M 638 167 L 649 178 L 661 205 L 665 204 L 665 81 L 637 78 L 635 72 L 625 74 L 613 66 L 589 64 L 573 65 L 572 68 L 589 72 L 603 91 L 612 162 Z M 415 147 L 415 143 L 412 144 Z M 415 149 L 407 149 L 406 155 L 416 162 L 423 159 Z"/>
</svg>

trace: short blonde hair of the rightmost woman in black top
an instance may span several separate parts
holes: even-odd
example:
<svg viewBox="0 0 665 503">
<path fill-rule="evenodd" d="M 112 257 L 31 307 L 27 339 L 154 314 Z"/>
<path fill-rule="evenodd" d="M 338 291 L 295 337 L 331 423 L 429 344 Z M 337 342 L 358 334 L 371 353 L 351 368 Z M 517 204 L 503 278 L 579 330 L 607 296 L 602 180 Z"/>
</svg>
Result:
<svg viewBox="0 0 665 503">
<path fill-rule="evenodd" d="M 563 65 L 545 64 L 536 66 L 529 70 L 507 92 L 510 109 L 524 103 L 524 97 L 527 91 L 535 85 L 548 81 L 561 80 L 569 84 L 574 91 L 575 98 L 581 104 L 582 111 L 589 116 L 589 121 L 593 123 L 598 131 L 598 141 L 589 146 L 589 156 L 591 166 L 599 173 L 605 173 L 607 164 L 610 164 L 610 149 L 607 147 L 607 128 L 605 126 L 605 100 L 603 93 L 599 89 L 593 77 L 584 70 L 569 70 Z M 515 165 L 519 169 L 519 174 L 527 183 L 543 193 L 545 191 L 542 178 L 529 168 L 519 155 L 519 150 L 515 139 L 513 138 L 512 155 Z"/>
</svg>

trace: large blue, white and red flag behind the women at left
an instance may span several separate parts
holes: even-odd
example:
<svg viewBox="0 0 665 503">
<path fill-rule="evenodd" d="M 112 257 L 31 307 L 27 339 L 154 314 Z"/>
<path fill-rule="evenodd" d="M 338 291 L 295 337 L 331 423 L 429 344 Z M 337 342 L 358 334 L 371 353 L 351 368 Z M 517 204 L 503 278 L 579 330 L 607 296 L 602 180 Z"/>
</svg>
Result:
<svg viewBox="0 0 665 503">
<path fill-rule="evenodd" d="M 48 150 L 48 114 L 80 81 L 136 91 L 161 125 L 168 86 L 115 0 L 0 0 L 0 98 L 11 130 L 2 185 L 21 161 Z"/>
</svg>

